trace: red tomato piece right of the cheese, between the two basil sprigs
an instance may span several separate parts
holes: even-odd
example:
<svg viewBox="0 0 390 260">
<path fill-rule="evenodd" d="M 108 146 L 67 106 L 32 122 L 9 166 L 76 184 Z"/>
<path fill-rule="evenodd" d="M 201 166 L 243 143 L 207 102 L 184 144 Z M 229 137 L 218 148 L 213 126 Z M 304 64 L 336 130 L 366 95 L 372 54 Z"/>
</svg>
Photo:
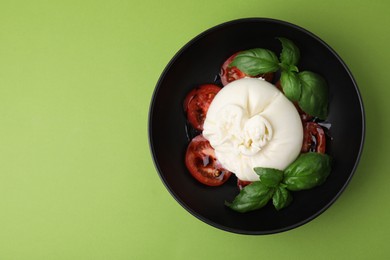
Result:
<svg viewBox="0 0 390 260">
<path fill-rule="evenodd" d="M 322 127 L 315 122 L 305 123 L 301 152 L 315 151 L 317 153 L 325 153 L 325 149 L 326 137 Z"/>
</svg>

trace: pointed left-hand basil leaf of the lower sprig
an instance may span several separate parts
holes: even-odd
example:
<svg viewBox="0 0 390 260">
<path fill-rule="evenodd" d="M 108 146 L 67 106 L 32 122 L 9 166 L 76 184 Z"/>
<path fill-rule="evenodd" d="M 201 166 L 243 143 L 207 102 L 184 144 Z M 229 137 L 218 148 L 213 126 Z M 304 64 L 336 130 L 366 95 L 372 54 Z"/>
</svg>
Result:
<svg viewBox="0 0 390 260">
<path fill-rule="evenodd" d="M 244 213 L 264 207 L 273 195 L 274 189 L 259 181 L 245 186 L 232 203 L 225 202 L 229 208 Z"/>
</svg>

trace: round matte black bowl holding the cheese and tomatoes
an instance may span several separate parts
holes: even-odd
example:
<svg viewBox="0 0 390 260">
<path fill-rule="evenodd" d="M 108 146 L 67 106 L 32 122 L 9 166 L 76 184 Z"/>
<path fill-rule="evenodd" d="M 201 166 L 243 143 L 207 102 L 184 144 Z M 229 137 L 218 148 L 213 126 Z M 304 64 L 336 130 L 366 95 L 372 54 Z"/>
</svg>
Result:
<svg viewBox="0 0 390 260">
<path fill-rule="evenodd" d="M 264 208 L 237 213 L 224 206 L 238 194 L 235 178 L 221 187 L 198 183 L 187 171 L 184 155 L 189 143 L 183 99 L 194 87 L 219 81 L 222 63 L 233 53 L 256 47 L 280 53 L 276 37 L 291 39 L 301 51 L 300 70 L 321 74 L 330 91 L 327 153 L 333 168 L 327 181 L 314 189 L 294 192 L 293 203 L 276 211 Z M 345 189 L 362 152 L 365 121 L 362 99 L 350 71 L 321 39 L 296 25 L 263 18 L 230 21 L 187 43 L 162 73 L 149 111 L 149 143 L 157 171 L 172 196 L 191 214 L 222 230 L 241 234 L 270 234 L 309 222 L 324 212 Z"/>
</svg>

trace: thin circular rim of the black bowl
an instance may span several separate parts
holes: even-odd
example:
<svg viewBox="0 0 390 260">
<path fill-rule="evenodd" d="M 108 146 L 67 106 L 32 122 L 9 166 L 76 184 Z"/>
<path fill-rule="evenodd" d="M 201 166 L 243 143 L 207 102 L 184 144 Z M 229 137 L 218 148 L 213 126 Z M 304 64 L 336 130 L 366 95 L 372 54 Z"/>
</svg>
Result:
<svg viewBox="0 0 390 260">
<path fill-rule="evenodd" d="M 248 23 L 248 22 L 276 23 L 276 24 L 280 24 L 282 26 L 291 27 L 291 28 L 293 28 L 295 30 L 301 31 L 304 34 L 307 34 L 308 36 L 310 36 L 310 37 L 314 38 L 316 41 L 318 41 L 321 45 L 323 45 L 334 57 L 336 57 L 338 62 L 343 66 L 344 70 L 347 72 L 348 77 L 350 78 L 350 80 L 351 80 L 351 82 L 352 82 L 352 84 L 354 86 L 354 89 L 356 91 L 356 95 L 357 95 L 357 98 L 358 98 L 358 101 L 359 101 L 360 110 L 361 110 L 361 122 L 362 122 L 362 134 L 361 134 L 361 137 L 360 137 L 360 147 L 359 147 L 359 151 L 358 151 L 355 163 L 354 163 L 354 165 L 353 165 L 353 167 L 351 169 L 351 172 L 349 173 L 349 176 L 348 176 L 347 180 L 345 181 L 345 183 L 343 184 L 341 189 L 335 194 L 335 196 L 333 196 L 333 198 L 325 206 L 323 206 L 321 209 L 316 211 L 315 214 L 313 214 L 313 215 L 311 215 L 311 216 L 309 216 L 309 217 L 307 217 L 307 218 L 305 218 L 305 219 L 303 219 L 303 220 L 301 220 L 301 221 L 299 221 L 297 223 L 294 223 L 292 225 L 289 225 L 289 226 L 286 226 L 286 227 L 283 227 L 283 228 L 270 229 L 270 230 L 265 230 L 265 231 L 264 230 L 263 231 L 259 231 L 259 230 L 256 230 L 256 231 L 241 230 L 241 229 L 238 229 L 238 228 L 227 227 L 227 226 L 224 226 L 222 224 L 216 223 L 216 222 L 214 222 L 214 221 L 212 221 L 210 219 L 207 219 L 206 217 L 203 217 L 202 215 L 198 214 L 197 212 L 192 210 L 190 207 L 188 207 L 180 199 L 180 197 L 174 192 L 174 190 L 169 186 L 167 180 L 163 176 L 161 168 L 159 166 L 159 163 L 157 162 L 155 148 L 154 148 L 154 143 L 153 143 L 153 136 L 152 136 L 152 134 L 153 134 L 153 130 L 152 130 L 152 128 L 153 128 L 153 122 L 152 122 L 153 115 L 152 114 L 153 114 L 153 111 L 154 111 L 154 106 L 155 106 L 155 100 L 156 100 L 156 97 L 157 97 L 157 93 L 159 92 L 159 89 L 161 88 L 161 83 L 164 80 L 166 74 L 170 71 L 170 68 L 176 62 L 176 60 L 180 57 L 180 55 L 183 52 L 185 52 L 188 48 L 190 48 L 194 43 L 199 41 L 201 38 L 206 37 L 207 35 L 213 33 L 214 31 L 216 31 L 216 30 L 218 30 L 218 29 L 220 29 L 222 27 L 230 26 L 230 25 L 236 25 L 236 24 L 240 24 L 240 23 Z M 230 20 L 230 21 L 226 21 L 226 22 L 217 24 L 217 25 L 212 26 L 209 29 L 206 29 L 203 32 L 199 33 L 198 35 L 193 37 L 190 41 L 188 41 L 184 46 L 182 46 L 175 53 L 175 55 L 170 59 L 170 61 L 165 66 L 164 70 L 162 71 L 160 77 L 158 78 L 158 81 L 157 81 L 156 86 L 154 88 L 154 91 L 152 93 L 151 101 L 150 101 L 150 104 L 149 104 L 149 112 L 148 112 L 147 124 L 148 124 L 147 128 L 148 128 L 149 150 L 150 150 L 150 153 L 151 153 L 151 156 L 152 156 L 152 159 L 153 159 L 153 163 L 154 163 L 155 169 L 157 170 L 157 173 L 158 173 L 161 181 L 163 182 L 165 188 L 168 190 L 168 192 L 171 194 L 171 196 L 181 205 L 181 207 L 183 207 L 191 215 L 195 216 L 197 219 L 201 220 L 202 222 L 204 222 L 204 223 L 206 223 L 206 224 L 208 224 L 208 225 L 210 225 L 210 226 L 212 226 L 214 228 L 217 228 L 217 229 L 220 229 L 220 230 L 224 230 L 224 231 L 228 231 L 228 232 L 231 232 L 231 233 L 241 234 L 241 235 L 269 235 L 269 234 L 276 234 L 276 233 L 289 231 L 289 230 L 295 229 L 295 228 L 297 228 L 299 226 L 302 226 L 302 225 L 304 225 L 306 223 L 309 223 L 310 221 L 312 221 L 313 219 L 317 218 L 319 215 L 324 213 L 340 197 L 340 195 L 345 191 L 346 187 L 348 186 L 348 184 L 350 183 L 352 177 L 354 176 L 354 174 L 356 172 L 356 169 L 358 167 L 358 164 L 360 162 L 362 153 L 363 153 L 363 147 L 364 147 L 365 135 L 366 135 L 365 109 L 364 109 L 362 96 L 361 96 L 361 93 L 359 91 L 359 88 L 358 88 L 358 85 L 356 83 L 355 78 L 353 77 L 350 69 L 347 67 L 347 65 L 341 59 L 341 57 L 326 42 L 324 42 L 321 38 L 319 38 L 314 33 L 308 31 L 307 29 L 304 29 L 303 27 L 300 27 L 300 26 L 298 26 L 296 24 L 293 24 L 293 23 L 290 23 L 290 22 L 287 22 L 287 21 L 284 21 L 284 20 L 268 18 L 268 17 L 239 18 L 239 19 L 234 19 L 234 20 Z"/>
</svg>

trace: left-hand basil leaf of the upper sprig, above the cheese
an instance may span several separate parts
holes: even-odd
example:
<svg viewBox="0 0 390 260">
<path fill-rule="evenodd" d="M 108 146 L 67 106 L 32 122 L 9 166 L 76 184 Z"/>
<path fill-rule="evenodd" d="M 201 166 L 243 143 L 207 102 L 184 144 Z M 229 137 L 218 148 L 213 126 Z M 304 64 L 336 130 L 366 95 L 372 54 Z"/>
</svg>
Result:
<svg viewBox="0 0 390 260">
<path fill-rule="evenodd" d="M 275 72 L 279 69 L 278 57 L 270 50 L 256 48 L 242 51 L 233 59 L 229 67 L 237 67 L 249 76 Z"/>
</svg>

